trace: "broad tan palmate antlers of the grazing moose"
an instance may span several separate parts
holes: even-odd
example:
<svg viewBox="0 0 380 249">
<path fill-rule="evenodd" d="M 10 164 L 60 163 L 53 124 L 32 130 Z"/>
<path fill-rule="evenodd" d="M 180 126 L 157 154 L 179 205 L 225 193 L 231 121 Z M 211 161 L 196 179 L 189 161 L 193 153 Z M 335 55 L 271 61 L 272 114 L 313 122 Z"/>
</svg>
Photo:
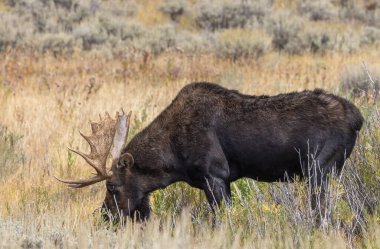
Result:
<svg viewBox="0 0 380 249">
<path fill-rule="evenodd" d="M 96 175 L 94 177 L 83 180 L 62 180 L 57 177 L 55 178 L 72 188 L 83 188 L 110 178 L 112 172 L 107 171 L 107 158 L 111 148 L 112 158 L 116 159 L 120 157 L 128 137 L 130 116 L 131 112 L 126 115 L 123 111 L 121 115 L 117 113 L 116 120 L 114 120 L 107 113 L 104 119 L 100 117 L 99 123 L 91 123 L 92 134 L 90 136 L 79 132 L 90 145 L 90 154 L 69 148 L 70 151 L 83 157 L 95 169 Z"/>
</svg>

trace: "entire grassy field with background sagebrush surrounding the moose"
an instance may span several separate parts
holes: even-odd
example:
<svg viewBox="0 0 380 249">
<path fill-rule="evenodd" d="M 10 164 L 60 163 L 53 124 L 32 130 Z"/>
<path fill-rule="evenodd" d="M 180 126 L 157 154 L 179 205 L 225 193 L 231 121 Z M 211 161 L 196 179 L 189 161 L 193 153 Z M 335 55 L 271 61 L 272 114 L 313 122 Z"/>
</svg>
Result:
<svg viewBox="0 0 380 249">
<path fill-rule="evenodd" d="M 0 248 L 380 248 L 372 2 L 0 0 Z M 67 150 L 88 149 L 78 132 L 90 120 L 131 110 L 131 138 L 195 81 L 252 95 L 323 88 L 360 108 L 326 213 L 303 181 L 241 179 L 215 222 L 203 192 L 177 183 L 153 193 L 147 223 L 109 226 L 94 213 L 104 183 L 53 178 L 91 174 Z"/>
</svg>

